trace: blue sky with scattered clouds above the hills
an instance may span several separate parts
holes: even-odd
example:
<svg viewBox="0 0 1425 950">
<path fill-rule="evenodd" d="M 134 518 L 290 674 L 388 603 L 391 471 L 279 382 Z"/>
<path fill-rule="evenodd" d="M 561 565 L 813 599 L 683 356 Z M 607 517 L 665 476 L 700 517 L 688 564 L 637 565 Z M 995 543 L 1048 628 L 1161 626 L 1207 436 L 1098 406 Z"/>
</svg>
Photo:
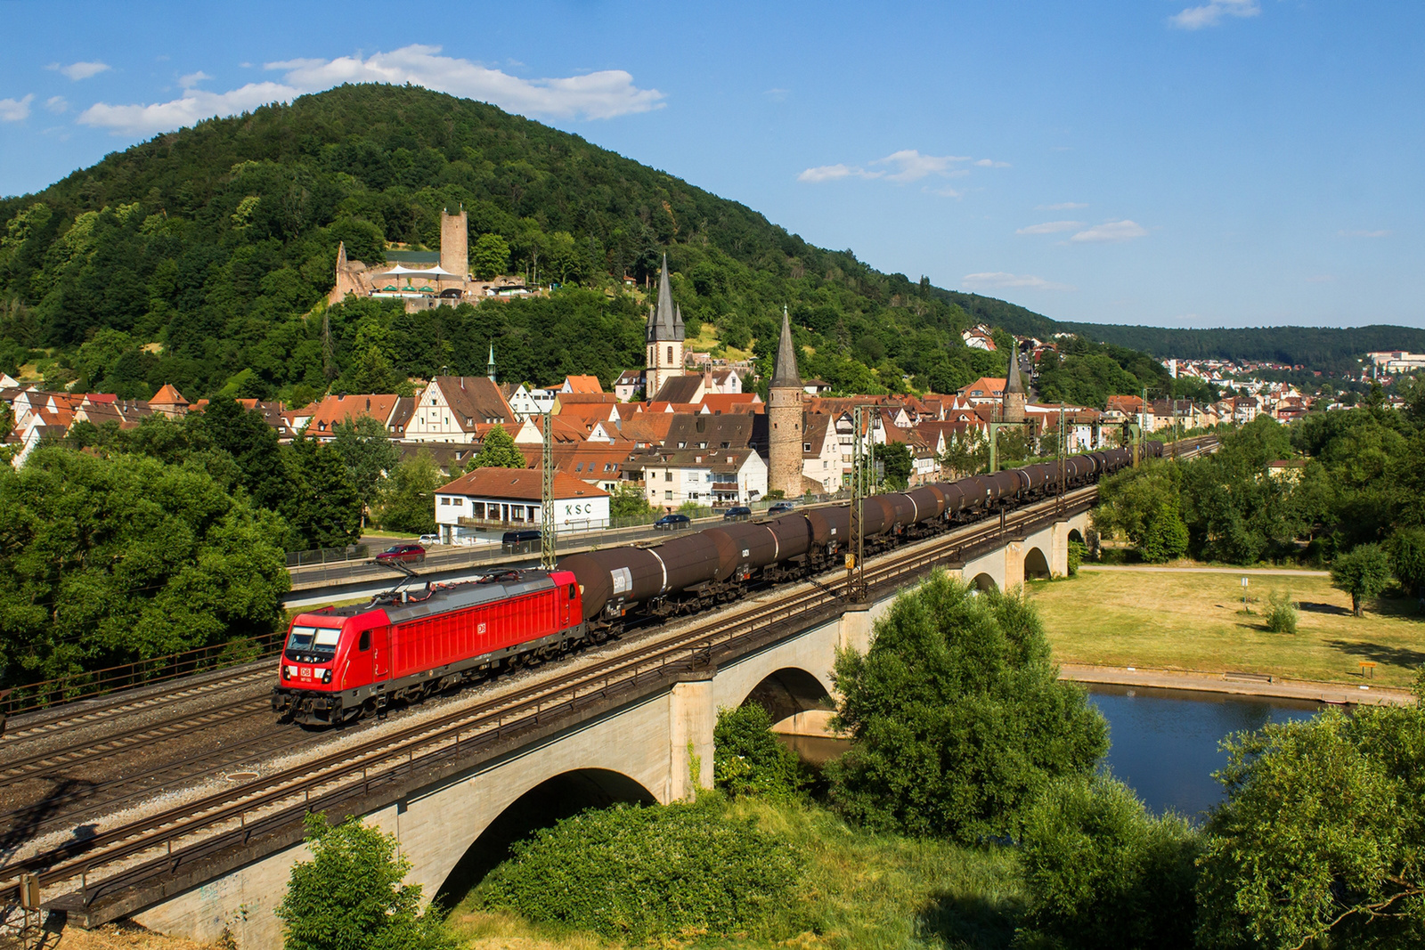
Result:
<svg viewBox="0 0 1425 950">
<path fill-rule="evenodd" d="M 0 194 L 205 115 L 389 78 L 1057 319 L 1425 326 L 1418 1 L 0 13 Z"/>
</svg>

